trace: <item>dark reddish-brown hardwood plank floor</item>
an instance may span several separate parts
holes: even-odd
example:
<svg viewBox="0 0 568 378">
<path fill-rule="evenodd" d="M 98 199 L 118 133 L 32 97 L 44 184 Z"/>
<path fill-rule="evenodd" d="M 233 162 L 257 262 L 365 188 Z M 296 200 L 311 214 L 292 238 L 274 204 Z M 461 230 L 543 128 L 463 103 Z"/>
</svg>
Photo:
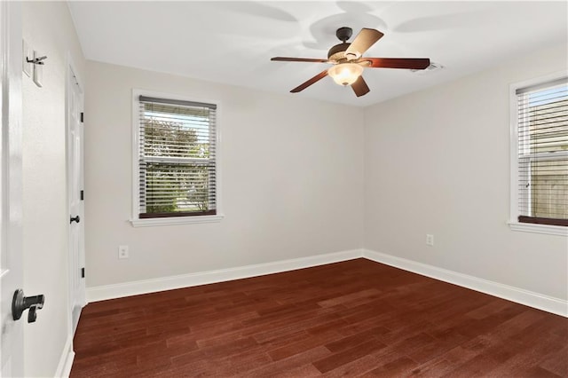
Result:
<svg viewBox="0 0 568 378">
<path fill-rule="evenodd" d="M 568 319 L 365 259 L 90 303 L 71 377 L 568 376 Z"/>
</svg>

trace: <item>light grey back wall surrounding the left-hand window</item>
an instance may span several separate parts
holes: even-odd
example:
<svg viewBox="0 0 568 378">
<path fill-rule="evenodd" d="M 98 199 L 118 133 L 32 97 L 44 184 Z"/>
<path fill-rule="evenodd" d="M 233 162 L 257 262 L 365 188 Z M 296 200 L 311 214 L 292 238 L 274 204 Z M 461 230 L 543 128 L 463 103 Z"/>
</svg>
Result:
<svg viewBox="0 0 568 378">
<path fill-rule="evenodd" d="M 87 73 L 87 287 L 362 247 L 360 109 L 97 62 Z M 128 222 L 133 88 L 221 101 L 220 223 Z"/>
</svg>

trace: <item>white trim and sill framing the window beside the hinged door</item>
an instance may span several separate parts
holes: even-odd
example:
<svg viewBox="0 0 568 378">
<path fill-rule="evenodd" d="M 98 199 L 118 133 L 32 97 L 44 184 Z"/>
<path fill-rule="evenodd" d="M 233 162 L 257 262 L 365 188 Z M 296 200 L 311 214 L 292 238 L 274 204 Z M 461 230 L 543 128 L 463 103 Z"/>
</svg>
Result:
<svg viewBox="0 0 568 378">
<path fill-rule="evenodd" d="M 160 217 L 160 218 L 143 218 L 140 219 L 138 217 L 138 205 L 139 205 L 139 198 L 138 198 L 138 128 L 139 128 L 139 120 L 138 120 L 138 103 L 140 96 L 148 96 L 148 97 L 155 97 L 155 98 L 171 98 L 171 99 L 178 99 L 182 101 L 193 101 L 193 102 L 203 102 L 207 104 L 215 104 L 217 105 L 217 119 L 216 119 L 216 134 L 217 134 L 217 149 L 216 149 L 216 206 L 217 206 L 217 215 L 215 216 L 190 216 L 190 217 Z M 171 93 L 162 93 L 157 91 L 145 91 L 139 89 L 132 90 L 132 145 L 131 145 L 131 158 L 132 158 L 132 209 L 131 209 L 131 217 L 130 217 L 130 224 L 133 227 L 147 227 L 147 226 L 158 226 L 158 225 L 174 225 L 174 224 L 203 224 L 203 223 L 217 223 L 220 222 L 225 215 L 222 212 L 222 203 L 221 203 L 221 128 L 220 128 L 220 108 L 221 104 L 220 101 L 210 100 L 210 99 L 203 99 L 203 98 L 188 98 L 183 96 L 174 95 Z"/>
</svg>

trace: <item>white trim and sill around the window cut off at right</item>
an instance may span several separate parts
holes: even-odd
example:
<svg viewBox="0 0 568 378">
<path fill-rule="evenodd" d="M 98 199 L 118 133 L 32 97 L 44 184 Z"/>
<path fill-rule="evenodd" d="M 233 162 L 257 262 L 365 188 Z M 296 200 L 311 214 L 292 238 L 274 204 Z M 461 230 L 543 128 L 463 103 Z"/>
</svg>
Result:
<svg viewBox="0 0 568 378">
<path fill-rule="evenodd" d="M 518 151 L 518 124 L 517 124 L 517 89 L 530 87 L 539 83 L 552 82 L 557 79 L 566 77 L 565 71 L 558 71 L 554 74 L 535 77 L 530 80 L 525 80 L 524 82 L 512 83 L 509 88 L 509 103 L 510 103 L 510 208 L 509 208 L 509 227 L 512 231 L 520 232 L 536 232 L 544 233 L 548 235 L 560 235 L 568 236 L 568 227 L 561 225 L 549 225 L 549 224 L 530 224 L 518 222 L 517 209 L 518 209 L 518 165 L 517 165 L 517 151 Z"/>
</svg>

